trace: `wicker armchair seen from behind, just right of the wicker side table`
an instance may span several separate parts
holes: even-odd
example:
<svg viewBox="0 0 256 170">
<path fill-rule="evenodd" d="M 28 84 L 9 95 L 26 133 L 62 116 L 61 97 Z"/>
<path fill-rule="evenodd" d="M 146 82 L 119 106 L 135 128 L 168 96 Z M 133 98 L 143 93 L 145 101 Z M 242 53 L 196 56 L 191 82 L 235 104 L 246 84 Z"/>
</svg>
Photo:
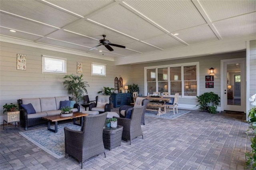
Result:
<svg viewBox="0 0 256 170">
<path fill-rule="evenodd" d="M 117 124 L 123 126 L 122 139 L 128 141 L 130 140 L 130 144 L 132 144 L 132 139 L 137 136 L 142 135 L 141 129 L 141 116 L 143 112 L 144 106 L 133 107 L 131 119 L 126 118 L 117 118 Z"/>
</svg>

